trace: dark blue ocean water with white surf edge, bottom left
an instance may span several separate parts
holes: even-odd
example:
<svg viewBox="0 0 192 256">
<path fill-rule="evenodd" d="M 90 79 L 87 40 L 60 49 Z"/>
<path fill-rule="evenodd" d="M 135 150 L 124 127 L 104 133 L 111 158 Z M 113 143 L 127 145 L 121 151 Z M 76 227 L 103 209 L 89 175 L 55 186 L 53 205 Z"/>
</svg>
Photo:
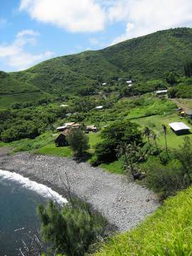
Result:
<svg viewBox="0 0 192 256">
<path fill-rule="evenodd" d="M 53 198 L 60 204 L 67 203 L 43 184 L 0 170 L 0 256 L 19 255 L 22 240 L 28 240 L 26 234 L 40 227 L 37 206 Z"/>
</svg>

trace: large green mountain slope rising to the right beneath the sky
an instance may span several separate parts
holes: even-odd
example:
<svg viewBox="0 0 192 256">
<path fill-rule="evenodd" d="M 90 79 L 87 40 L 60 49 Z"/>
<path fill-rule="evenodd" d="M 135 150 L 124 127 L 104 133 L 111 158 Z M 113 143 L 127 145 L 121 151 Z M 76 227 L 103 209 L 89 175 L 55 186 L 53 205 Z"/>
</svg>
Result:
<svg viewBox="0 0 192 256">
<path fill-rule="evenodd" d="M 192 50 L 192 29 L 176 28 L 134 38 L 103 50 L 46 60 L 11 77 L 46 92 L 73 92 L 93 85 L 97 75 L 148 80 L 163 78 L 168 70 L 183 73 L 183 63 Z"/>
</svg>

